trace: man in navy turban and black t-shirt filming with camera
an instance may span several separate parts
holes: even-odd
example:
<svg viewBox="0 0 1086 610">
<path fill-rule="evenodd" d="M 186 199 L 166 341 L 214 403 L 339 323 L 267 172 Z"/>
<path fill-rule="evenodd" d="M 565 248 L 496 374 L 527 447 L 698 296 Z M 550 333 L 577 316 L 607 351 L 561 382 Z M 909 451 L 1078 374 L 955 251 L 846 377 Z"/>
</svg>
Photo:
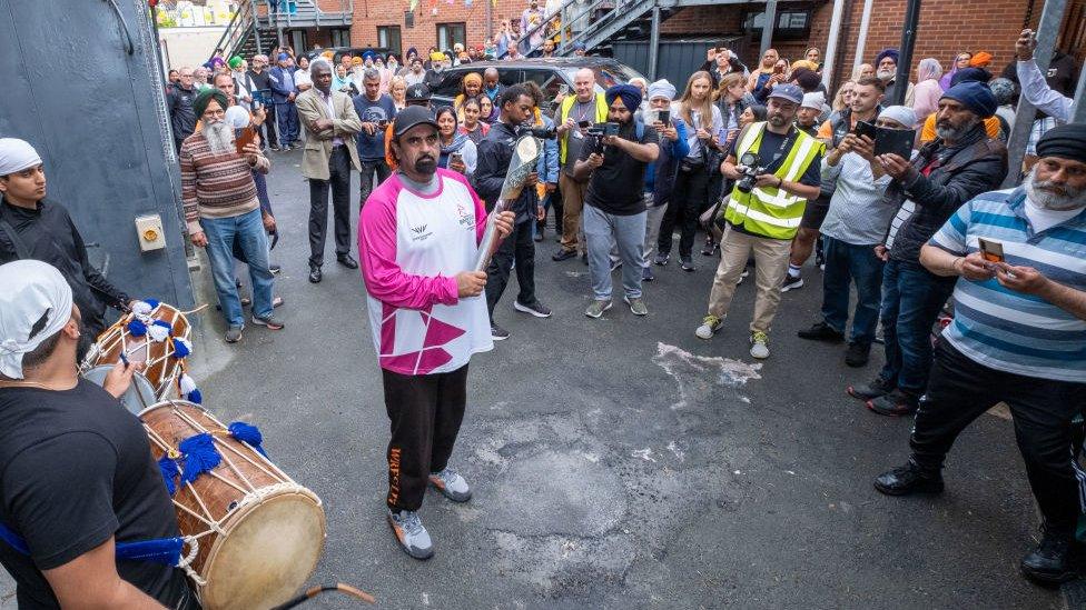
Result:
<svg viewBox="0 0 1086 610">
<path fill-rule="evenodd" d="M 573 178 L 589 180 L 584 198 L 584 240 L 589 251 L 593 301 L 584 314 L 599 318 L 611 309 L 611 240 L 622 259 L 623 300 L 635 316 L 645 316 L 641 297 L 644 261 L 645 166 L 660 154 L 656 130 L 635 121 L 641 89 L 618 84 L 608 89 L 608 122 L 593 126 L 573 168 Z M 595 140 L 595 142 L 593 142 Z M 590 178 L 591 177 L 591 178 Z"/>
</svg>

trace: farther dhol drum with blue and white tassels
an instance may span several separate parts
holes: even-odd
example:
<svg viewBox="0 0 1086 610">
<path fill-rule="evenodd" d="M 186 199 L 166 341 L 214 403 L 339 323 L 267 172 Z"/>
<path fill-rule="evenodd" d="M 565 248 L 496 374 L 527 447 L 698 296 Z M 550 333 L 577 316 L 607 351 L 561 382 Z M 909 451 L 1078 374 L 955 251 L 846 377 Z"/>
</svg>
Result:
<svg viewBox="0 0 1086 610">
<path fill-rule="evenodd" d="M 132 322 L 139 322 L 134 324 Z M 156 323 L 160 322 L 160 323 Z M 158 326 L 157 329 L 150 327 Z M 138 334 L 134 334 L 135 332 Z M 83 359 L 83 370 L 113 364 L 121 354 L 129 362 L 144 362 L 144 377 L 155 388 L 155 402 L 178 396 L 177 380 L 185 370 L 181 358 L 175 356 L 174 339 L 189 340 L 191 327 L 185 312 L 166 303 L 154 303 L 150 313 L 126 313 L 98 336 L 98 341 Z"/>
</svg>

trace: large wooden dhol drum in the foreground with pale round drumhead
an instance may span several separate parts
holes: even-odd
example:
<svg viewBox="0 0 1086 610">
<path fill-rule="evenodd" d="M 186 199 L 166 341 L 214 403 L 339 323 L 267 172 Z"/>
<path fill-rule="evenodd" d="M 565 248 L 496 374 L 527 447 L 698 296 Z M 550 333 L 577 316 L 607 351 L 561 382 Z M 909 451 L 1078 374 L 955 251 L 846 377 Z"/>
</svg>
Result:
<svg viewBox="0 0 1086 610">
<path fill-rule="evenodd" d="M 320 499 L 198 404 L 170 400 L 139 418 L 155 459 L 169 456 L 179 466 L 174 507 L 181 534 L 199 543 L 189 576 L 204 608 L 260 609 L 289 600 L 324 551 Z M 190 457 L 179 446 L 201 433 L 210 433 L 221 461 L 180 482 Z"/>
</svg>

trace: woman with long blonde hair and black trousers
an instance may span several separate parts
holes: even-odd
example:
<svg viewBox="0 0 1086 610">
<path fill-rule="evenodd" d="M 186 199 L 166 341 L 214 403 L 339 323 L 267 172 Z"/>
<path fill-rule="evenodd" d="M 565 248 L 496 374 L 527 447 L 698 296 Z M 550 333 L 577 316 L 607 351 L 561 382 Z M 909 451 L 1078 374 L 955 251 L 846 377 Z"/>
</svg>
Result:
<svg viewBox="0 0 1086 610">
<path fill-rule="evenodd" d="M 698 230 L 698 217 L 709 203 L 709 179 L 712 172 L 720 171 L 715 159 L 720 154 L 723 139 L 727 139 L 728 126 L 721 118 L 720 109 L 713 104 L 712 98 L 712 77 L 709 72 L 698 71 L 690 76 L 687 80 L 687 89 L 679 101 L 672 104 L 672 112 L 688 126 L 687 142 L 690 144 L 690 152 L 679 162 L 672 190 L 674 199 L 668 206 L 660 224 L 654 262 L 660 266 L 668 264 L 672 246 L 671 233 L 674 231 L 677 220 L 681 218 L 679 264 L 688 272 L 694 270 L 691 253 L 694 232 Z M 722 133 L 724 138 L 721 138 Z M 711 167 L 713 164 L 718 167 Z"/>
</svg>

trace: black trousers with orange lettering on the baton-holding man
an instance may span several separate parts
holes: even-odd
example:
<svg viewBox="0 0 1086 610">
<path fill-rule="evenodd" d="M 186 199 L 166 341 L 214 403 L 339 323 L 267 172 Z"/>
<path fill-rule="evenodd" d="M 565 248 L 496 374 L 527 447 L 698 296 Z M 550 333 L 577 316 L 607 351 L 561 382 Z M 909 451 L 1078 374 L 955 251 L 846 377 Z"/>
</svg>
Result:
<svg viewBox="0 0 1086 610">
<path fill-rule="evenodd" d="M 447 373 L 399 374 L 381 370 L 388 441 L 388 496 L 394 511 L 423 506 L 431 472 L 444 470 L 467 404 L 467 364 Z"/>
</svg>

